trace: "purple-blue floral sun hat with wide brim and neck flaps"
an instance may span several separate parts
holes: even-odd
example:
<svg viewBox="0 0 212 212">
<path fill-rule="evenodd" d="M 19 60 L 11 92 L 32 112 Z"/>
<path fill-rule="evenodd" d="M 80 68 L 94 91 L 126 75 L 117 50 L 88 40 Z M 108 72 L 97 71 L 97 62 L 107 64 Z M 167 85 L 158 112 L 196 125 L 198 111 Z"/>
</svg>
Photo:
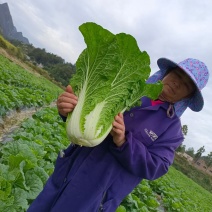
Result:
<svg viewBox="0 0 212 212">
<path fill-rule="evenodd" d="M 196 85 L 197 89 L 191 98 L 183 99 L 174 104 L 177 116 L 180 117 L 187 107 L 196 112 L 202 110 L 204 99 L 201 90 L 205 87 L 209 78 L 207 66 L 203 62 L 192 58 L 188 58 L 178 64 L 167 58 L 160 58 L 157 63 L 160 70 L 147 80 L 148 83 L 155 83 L 158 80 L 162 80 L 167 70 L 179 67 Z"/>
</svg>

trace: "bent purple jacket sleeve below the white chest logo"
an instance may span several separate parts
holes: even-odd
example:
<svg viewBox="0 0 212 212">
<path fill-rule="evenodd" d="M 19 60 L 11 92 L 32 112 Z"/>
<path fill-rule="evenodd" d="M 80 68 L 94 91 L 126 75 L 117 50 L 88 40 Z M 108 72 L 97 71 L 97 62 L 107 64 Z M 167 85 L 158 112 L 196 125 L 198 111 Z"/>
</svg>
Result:
<svg viewBox="0 0 212 212">
<path fill-rule="evenodd" d="M 168 140 L 159 139 L 152 145 L 145 145 L 132 132 L 126 133 L 126 142 L 121 147 L 110 145 L 113 156 L 130 173 L 148 180 L 164 175 L 173 163 L 175 149 L 183 141 L 182 136 Z"/>
</svg>

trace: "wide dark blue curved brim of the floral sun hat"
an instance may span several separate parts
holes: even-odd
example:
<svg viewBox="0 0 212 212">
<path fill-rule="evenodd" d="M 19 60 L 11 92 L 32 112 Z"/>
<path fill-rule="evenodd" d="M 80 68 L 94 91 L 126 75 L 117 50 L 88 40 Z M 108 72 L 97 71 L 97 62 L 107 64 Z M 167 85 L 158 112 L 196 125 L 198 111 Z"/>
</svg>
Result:
<svg viewBox="0 0 212 212">
<path fill-rule="evenodd" d="M 196 112 L 202 110 L 203 105 L 204 105 L 204 99 L 203 99 L 201 91 L 198 89 L 197 82 L 196 82 L 195 78 L 193 77 L 193 75 L 190 72 L 188 72 L 187 70 L 185 70 L 183 67 L 179 66 L 177 63 L 175 63 L 172 60 L 169 60 L 167 58 L 158 59 L 157 64 L 158 64 L 159 69 L 162 71 L 163 77 L 168 70 L 179 67 L 191 78 L 191 80 L 194 82 L 194 84 L 196 86 L 196 92 L 190 98 L 190 103 L 189 103 L 188 107 L 191 110 L 196 111 Z"/>
</svg>

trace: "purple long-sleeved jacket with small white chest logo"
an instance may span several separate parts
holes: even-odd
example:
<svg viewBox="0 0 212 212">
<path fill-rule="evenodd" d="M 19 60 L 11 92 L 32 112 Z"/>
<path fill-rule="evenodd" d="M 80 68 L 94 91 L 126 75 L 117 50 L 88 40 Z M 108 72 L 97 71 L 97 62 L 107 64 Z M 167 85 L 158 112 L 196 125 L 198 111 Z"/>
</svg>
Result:
<svg viewBox="0 0 212 212">
<path fill-rule="evenodd" d="M 28 212 L 113 212 L 142 179 L 167 171 L 183 141 L 181 122 L 167 116 L 168 103 L 125 112 L 127 141 L 116 147 L 108 137 L 96 147 L 70 145 Z"/>
</svg>

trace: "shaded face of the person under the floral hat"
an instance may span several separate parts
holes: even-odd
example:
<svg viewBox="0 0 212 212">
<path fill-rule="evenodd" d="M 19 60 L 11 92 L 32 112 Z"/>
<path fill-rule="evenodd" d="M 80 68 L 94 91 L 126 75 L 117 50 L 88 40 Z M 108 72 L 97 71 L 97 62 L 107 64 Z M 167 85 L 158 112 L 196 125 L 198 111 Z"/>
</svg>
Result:
<svg viewBox="0 0 212 212">
<path fill-rule="evenodd" d="M 162 80 L 163 90 L 159 99 L 175 103 L 191 96 L 195 91 L 195 85 L 190 77 L 180 68 L 171 70 Z"/>
</svg>

